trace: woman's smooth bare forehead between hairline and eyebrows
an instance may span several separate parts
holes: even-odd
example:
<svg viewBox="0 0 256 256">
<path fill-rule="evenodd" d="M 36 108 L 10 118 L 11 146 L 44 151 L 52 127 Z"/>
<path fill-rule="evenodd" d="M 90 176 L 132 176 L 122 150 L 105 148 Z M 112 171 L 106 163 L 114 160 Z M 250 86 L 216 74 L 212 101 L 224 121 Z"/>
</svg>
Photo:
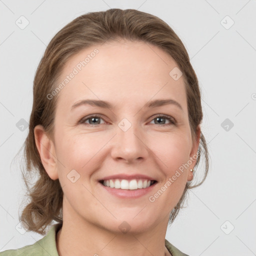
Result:
<svg viewBox="0 0 256 256">
<path fill-rule="evenodd" d="M 175 67 L 177 63 L 166 52 L 149 43 L 121 40 L 95 44 L 65 63 L 58 79 L 64 86 L 58 92 L 57 107 L 69 111 L 74 102 L 87 98 L 120 106 L 172 98 L 185 109 L 183 77 L 174 80 L 169 75 Z"/>
</svg>

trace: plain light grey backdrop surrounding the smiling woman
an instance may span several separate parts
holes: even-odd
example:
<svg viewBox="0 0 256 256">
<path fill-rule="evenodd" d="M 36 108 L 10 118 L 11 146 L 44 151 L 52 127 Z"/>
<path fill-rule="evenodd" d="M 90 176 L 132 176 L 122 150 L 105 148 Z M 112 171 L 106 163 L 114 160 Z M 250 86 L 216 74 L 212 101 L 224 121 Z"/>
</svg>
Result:
<svg viewBox="0 0 256 256">
<path fill-rule="evenodd" d="M 16 123 L 29 120 L 39 60 L 69 21 L 109 8 L 134 8 L 167 22 L 183 41 L 201 87 L 209 175 L 189 192 L 166 239 L 190 256 L 256 255 L 255 0 L 0 0 L 0 251 L 42 237 L 16 230 L 25 190 L 18 163 L 10 165 L 28 132 Z M 25 24 L 21 15 L 29 21 L 24 29 L 15 23 Z"/>
</svg>

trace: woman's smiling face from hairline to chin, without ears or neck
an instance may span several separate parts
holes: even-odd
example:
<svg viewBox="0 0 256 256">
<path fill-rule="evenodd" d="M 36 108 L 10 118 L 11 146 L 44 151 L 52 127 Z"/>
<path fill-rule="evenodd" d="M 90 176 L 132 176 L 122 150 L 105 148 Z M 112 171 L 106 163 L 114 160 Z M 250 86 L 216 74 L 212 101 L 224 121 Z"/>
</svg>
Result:
<svg viewBox="0 0 256 256">
<path fill-rule="evenodd" d="M 56 92 L 56 168 L 47 170 L 59 178 L 64 215 L 114 232 L 167 223 L 192 179 L 198 148 L 179 76 L 171 57 L 144 42 L 108 42 L 67 61 L 58 79 L 64 86 Z M 82 100 L 106 101 L 107 107 L 78 104 Z M 171 101 L 150 105 L 154 100 Z M 105 187 L 102 179 L 124 189 Z M 127 189 L 145 180 L 156 182 Z"/>
</svg>

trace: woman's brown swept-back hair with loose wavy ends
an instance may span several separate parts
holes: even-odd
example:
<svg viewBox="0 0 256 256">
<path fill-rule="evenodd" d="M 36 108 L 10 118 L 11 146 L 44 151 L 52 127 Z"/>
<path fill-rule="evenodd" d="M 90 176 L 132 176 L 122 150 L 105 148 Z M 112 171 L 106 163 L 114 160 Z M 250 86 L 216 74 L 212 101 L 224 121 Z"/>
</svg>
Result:
<svg viewBox="0 0 256 256">
<path fill-rule="evenodd" d="M 198 156 L 205 157 L 204 175 L 200 182 L 192 185 L 188 181 L 182 196 L 172 209 L 172 223 L 183 204 L 188 189 L 200 185 L 208 173 L 208 151 L 203 134 L 196 137 L 196 129 L 202 120 L 200 89 L 196 74 L 190 64 L 188 53 L 172 28 L 160 18 L 135 9 L 108 9 L 83 14 L 58 31 L 49 42 L 37 67 L 33 81 L 33 105 L 29 120 L 29 132 L 23 144 L 25 173 L 22 172 L 29 203 L 26 203 L 19 220 L 27 230 L 45 234 L 52 220 L 62 222 L 63 191 L 59 180 L 52 180 L 45 171 L 36 148 L 34 127 L 41 124 L 53 139 L 54 115 L 57 97 L 47 95 L 57 86 L 57 80 L 68 59 L 80 50 L 110 40 L 127 39 L 156 45 L 168 53 L 177 63 L 185 81 L 187 108 L 193 141 L 199 141 Z M 31 175 L 36 182 L 29 184 Z M 193 179 L 194 180 L 194 179 Z"/>
</svg>

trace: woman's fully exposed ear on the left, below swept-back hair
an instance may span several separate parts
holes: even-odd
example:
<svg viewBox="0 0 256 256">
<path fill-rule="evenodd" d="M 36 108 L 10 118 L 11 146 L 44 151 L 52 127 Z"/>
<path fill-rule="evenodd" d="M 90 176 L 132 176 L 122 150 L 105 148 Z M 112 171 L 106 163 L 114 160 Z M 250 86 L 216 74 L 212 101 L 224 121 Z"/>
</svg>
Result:
<svg viewBox="0 0 256 256">
<path fill-rule="evenodd" d="M 44 169 L 51 179 L 57 179 L 57 158 L 53 141 L 47 136 L 40 124 L 34 127 L 34 137 Z"/>
</svg>

